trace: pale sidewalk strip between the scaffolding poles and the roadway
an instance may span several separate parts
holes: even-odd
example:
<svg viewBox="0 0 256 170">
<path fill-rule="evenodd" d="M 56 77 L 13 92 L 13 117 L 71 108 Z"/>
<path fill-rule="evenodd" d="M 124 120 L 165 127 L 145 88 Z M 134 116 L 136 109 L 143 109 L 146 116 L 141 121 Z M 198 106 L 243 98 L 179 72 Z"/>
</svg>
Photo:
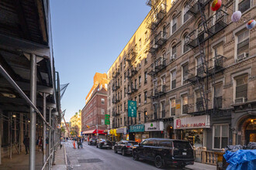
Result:
<svg viewBox="0 0 256 170">
<path fill-rule="evenodd" d="M 62 143 L 62 148 L 56 151 L 56 155 L 55 155 L 55 162 L 54 165 L 52 166 L 53 170 L 64 170 L 67 169 L 67 165 L 66 165 L 66 158 L 65 158 L 65 144 Z"/>
</svg>

